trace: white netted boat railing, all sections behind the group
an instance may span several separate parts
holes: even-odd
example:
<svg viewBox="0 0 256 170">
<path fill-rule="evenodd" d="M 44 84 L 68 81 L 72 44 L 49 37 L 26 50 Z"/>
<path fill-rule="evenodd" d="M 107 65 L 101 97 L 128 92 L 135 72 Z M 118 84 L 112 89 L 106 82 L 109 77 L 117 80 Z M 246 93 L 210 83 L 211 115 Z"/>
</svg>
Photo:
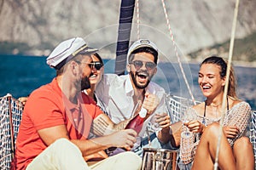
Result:
<svg viewBox="0 0 256 170">
<path fill-rule="evenodd" d="M 178 122 L 181 120 L 183 112 L 194 102 L 190 99 L 166 94 L 166 103 L 172 122 Z M 200 102 L 196 101 L 195 103 Z M 14 158 L 22 111 L 23 105 L 10 94 L 0 98 L 0 169 L 9 169 Z M 247 135 L 253 144 L 254 158 L 256 158 L 256 111 L 251 113 Z"/>
</svg>

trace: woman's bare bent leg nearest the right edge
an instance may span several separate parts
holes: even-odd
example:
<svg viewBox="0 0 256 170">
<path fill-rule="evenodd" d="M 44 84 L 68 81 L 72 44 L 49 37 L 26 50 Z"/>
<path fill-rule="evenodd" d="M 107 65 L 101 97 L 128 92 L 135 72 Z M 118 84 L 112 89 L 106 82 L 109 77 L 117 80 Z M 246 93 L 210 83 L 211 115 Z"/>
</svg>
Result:
<svg viewBox="0 0 256 170">
<path fill-rule="evenodd" d="M 236 169 L 254 169 L 253 144 L 249 138 L 241 137 L 240 139 L 236 139 L 233 146 L 233 153 L 236 159 Z"/>
</svg>

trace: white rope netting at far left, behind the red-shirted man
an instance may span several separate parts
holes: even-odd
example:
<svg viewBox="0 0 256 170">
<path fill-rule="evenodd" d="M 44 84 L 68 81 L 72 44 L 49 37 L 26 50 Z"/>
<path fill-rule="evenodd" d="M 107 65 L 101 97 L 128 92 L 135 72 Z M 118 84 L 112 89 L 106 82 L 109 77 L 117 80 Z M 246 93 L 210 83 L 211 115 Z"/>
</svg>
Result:
<svg viewBox="0 0 256 170">
<path fill-rule="evenodd" d="M 10 168 L 22 110 L 22 104 L 11 95 L 0 98 L 0 169 Z"/>
</svg>

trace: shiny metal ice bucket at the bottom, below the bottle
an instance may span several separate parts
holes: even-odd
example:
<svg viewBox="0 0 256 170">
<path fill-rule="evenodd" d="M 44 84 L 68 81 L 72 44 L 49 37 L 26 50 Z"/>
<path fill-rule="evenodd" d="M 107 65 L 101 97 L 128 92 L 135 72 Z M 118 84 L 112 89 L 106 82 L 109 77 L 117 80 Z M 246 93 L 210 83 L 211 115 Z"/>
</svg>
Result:
<svg viewBox="0 0 256 170">
<path fill-rule="evenodd" d="M 177 170 L 177 151 L 143 148 L 142 170 Z"/>
</svg>

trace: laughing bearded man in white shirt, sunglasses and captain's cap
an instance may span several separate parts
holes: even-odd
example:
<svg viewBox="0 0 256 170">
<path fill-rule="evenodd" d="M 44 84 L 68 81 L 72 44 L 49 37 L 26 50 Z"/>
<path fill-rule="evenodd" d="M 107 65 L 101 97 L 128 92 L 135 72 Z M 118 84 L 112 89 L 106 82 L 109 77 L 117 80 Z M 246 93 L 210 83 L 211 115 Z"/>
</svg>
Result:
<svg viewBox="0 0 256 170">
<path fill-rule="evenodd" d="M 98 103 L 115 123 L 131 119 L 142 109 L 147 110 L 140 143 L 133 148 L 142 156 L 143 148 L 171 149 L 170 116 L 166 113 L 165 90 L 151 82 L 157 71 L 158 49 L 153 42 L 134 42 L 127 54 L 127 75 L 105 74 L 96 86 Z M 155 126 L 155 120 L 159 127 Z M 148 144 L 149 143 L 149 144 Z"/>
</svg>

